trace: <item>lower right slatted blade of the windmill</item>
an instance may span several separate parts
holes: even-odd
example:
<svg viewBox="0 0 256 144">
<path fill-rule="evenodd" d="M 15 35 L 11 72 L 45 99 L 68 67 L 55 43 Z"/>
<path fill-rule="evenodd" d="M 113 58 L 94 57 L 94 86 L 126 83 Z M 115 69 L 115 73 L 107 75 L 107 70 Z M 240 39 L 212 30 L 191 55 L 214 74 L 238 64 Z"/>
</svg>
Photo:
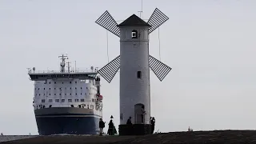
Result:
<svg viewBox="0 0 256 144">
<path fill-rule="evenodd" d="M 150 55 L 149 58 L 150 69 L 154 72 L 154 74 L 158 77 L 158 79 L 162 82 L 163 78 L 170 72 L 171 68 L 166 66 L 166 64 L 160 62 L 157 58 L 154 58 Z"/>
</svg>

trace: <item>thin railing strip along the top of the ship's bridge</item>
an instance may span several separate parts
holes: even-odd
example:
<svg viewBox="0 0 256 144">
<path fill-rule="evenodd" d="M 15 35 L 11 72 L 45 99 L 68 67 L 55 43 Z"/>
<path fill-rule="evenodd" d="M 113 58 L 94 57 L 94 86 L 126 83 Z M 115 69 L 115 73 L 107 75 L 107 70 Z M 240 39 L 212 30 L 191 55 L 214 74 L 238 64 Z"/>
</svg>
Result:
<svg viewBox="0 0 256 144">
<path fill-rule="evenodd" d="M 62 72 L 61 70 L 29 70 L 29 74 L 76 74 L 76 73 L 97 73 L 97 70 L 65 70 Z"/>
</svg>

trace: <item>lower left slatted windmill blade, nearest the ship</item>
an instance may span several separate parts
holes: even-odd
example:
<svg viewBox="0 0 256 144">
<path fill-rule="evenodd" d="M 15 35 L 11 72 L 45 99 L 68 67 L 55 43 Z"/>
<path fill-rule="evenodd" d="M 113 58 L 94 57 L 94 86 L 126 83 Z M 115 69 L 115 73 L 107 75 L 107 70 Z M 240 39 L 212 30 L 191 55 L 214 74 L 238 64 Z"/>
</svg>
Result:
<svg viewBox="0 0 256 144">
<path fill-rule="evenodd" d="M 114 58 L 111 62 L 103 66 L 100 70 L 98 70 L 98 74 L 101 74 L 103 78 L 106 79 L 107 82 L 111 82 L 114 78 L 114 75 L 117 74 L 120 68 L 120 55 L 117 58 Z"/>
</svg>

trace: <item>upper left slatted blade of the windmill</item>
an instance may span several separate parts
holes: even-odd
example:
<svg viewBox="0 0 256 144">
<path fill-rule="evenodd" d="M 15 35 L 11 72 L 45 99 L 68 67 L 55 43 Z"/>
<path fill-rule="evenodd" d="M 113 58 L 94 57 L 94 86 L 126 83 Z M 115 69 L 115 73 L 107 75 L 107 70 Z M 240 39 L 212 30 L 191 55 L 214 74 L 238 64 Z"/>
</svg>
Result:
<svg viewBox="0 0 256 144">
<path fill-rule="evenodd" d="M 110 15 L 110 13 L 106 10 L 102 16 L 100 16 L 96 23 L 99 26 L 104 27 L 106 30 L 109 30 L 111 33 L 120 37 L 120 30 L 118 28 L 118 23 L 114 21 L 114 18 Z"/>
</svg>

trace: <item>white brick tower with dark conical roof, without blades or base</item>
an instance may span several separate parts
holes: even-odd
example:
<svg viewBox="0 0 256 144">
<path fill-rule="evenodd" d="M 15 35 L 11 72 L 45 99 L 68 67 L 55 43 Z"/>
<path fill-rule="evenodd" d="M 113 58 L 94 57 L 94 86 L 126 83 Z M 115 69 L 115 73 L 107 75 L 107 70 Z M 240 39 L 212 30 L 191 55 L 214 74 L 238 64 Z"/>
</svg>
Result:
<svg viewBox="0 0 256 144">
<path fill-rule="evenodd" d="M 120 124 L 150 124 L 150 25 L 135 14 L 120 29 Z"/>
</svg>

